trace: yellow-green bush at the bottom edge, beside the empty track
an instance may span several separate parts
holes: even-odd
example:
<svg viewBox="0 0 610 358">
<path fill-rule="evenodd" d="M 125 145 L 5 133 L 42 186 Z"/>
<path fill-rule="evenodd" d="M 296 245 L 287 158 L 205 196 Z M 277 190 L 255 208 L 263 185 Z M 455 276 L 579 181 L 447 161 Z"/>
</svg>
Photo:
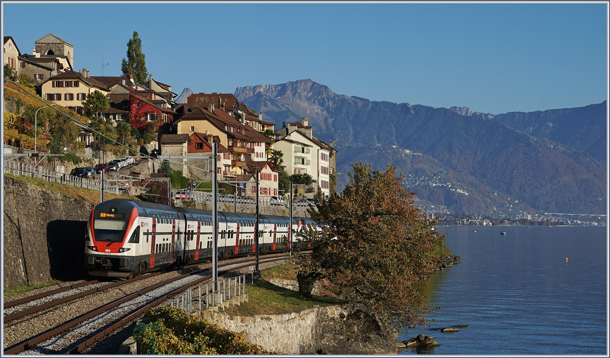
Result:
<svg viewBox="0 0 610 358">
<path fill-rule="evenodd" d="M 212 325 L 182 309 L 148 311 L 133 337 L 141 354 L 274 354 L 246 341 L 245 334 Z"/>
</svg>

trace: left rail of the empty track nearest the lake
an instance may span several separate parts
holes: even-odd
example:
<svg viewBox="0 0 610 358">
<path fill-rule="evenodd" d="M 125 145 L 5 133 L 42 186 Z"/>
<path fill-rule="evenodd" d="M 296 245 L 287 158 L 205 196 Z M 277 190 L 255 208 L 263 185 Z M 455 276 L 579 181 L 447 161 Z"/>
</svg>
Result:
<svg viewBox="0 0 610 358">
<path fill-rule="evenodd" d="M 278 259 L 272 259 L 270 261 L 279 261 L 279 260 L 282 260 L 282 259 L 285 259 L 285 257 L 278 258 Z M 242 262 L 246 262 L 246 261 L 251 261 L 251 260 L 245 260 L 245 261 L 242 261 Z M 268 262 L 268 261 L 265 261 L 265 262 Z M 234 262 L 234 263 L 231 263 L 231 264 L 224 264 L 222 266 L 224 267 L 224 266 L 228 266 L 228 265 L 234 265 L 236 263 L 239 264 L 240 262 Z M 246 267 L 246 266 L 249 266 L 249 264 L 248 265 L 243 265 L 242 267 Z M 242 268 L 242 267 L 240 267 L 240 268 Z M 180 276 L 176 276 L 176 277 L 171 278 L 171 279 L 167 279 L 167 280 L 162 281 L 162 282 L 160 282 L 158 284 L 154 284 L 153 286 L 149 286 L 146 289 L 139 290 L 138 292 L 134 292 L 131 295 L 127 295 L 126 297 L 123 297 L 123 298 L 115 300 L 115 301 L 113 301 L 111 303 L 105 304 L 104 306 L 99 307 L 97 309 L 94 309 L 93 311 L 87 312 L 87 313 L 82 314 L 82 315 L 80 315 L 78 317 L 74 317 L 71 320 L 63 323 L 62 325 L 60 325 L 60 326 L 58 326 L 56 328 L 49 329 L 48 331 L 45 331 L 45 332 L 43 332 L 41 334 L 38 334 L 38 335 L 35 335 L 34 337 L 26 339 L 23 342 L 16 343 L 15 345 L 10 346 L 9 348 L 4 349 L 4 354 L 18 354 L 18 353 L 21 353 L 23 351 L 26 351 L 27 349 L 30 349 L 30 348 L 34 347 L 38 343 L 45 342 L 45 340 L 48 340 L 48 339 L 50 339 L 50 338 L 52 338 L 52 337 L 54 337 L 54 336 L 56 336 L 56 335 L 58 335 L 58 334 L 60 334 L 62 332 L 65 332 L 68 329 L 73 328 L 74 326 L 78 325 L 79 323 L 82 323 L 82 322 L 88 320 L 89 318 L 93 318 L 96 315 L 101 314 L 102 312 L 109 311 L 110 309 L 113 309 L 114 307 L 117 307 L 118 305 L 120 305 L 122 303 L 125 303 L 127 301 L 133 300 L 134 298 L 137 298 L 137 297 L 139 297 L 141 295 L 144 295 L 145 293 L 148 293 L 148 292 L 150 292 L 152 290 L 158 289 L 159 287 L 165 286 L 167 284 L 170 284 L 170 283 L 172 283 L 174 281 L 178 281 L 179 279 L 186 278 L 188 276 L 196 275 L 197 273 L 201 273 L 201 272 L 204 272 L 206 270 L 209 270 L 209 268 L 201 269 L 201 270 L 196 270 L 196 271 L 193 271 L 193 272 L 190 272 L 190 273 L 186 273 L 184 275 L 180 275 Z M 197 280 L 197 281 L 199 281 L 199 280 Z M 187 286 L 184 286 L 184 287 L 187 287 Z M 188 287 L 190 287 L 190 286 L 188 286 Z"/>
</svg>

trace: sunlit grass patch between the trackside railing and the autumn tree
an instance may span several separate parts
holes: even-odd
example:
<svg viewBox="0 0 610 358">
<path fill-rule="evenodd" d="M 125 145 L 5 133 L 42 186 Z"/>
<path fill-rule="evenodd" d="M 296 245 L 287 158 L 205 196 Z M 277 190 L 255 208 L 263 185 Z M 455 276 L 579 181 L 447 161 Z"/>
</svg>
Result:
<svg viewBox="0 0 610 358">
<path fill-rule="evenodd" d="M 294 276 L 290 276 L 292 275 L 291 272 L 293 272 Z M 262 276 L 264 278 L 295 279 L 296 267 L 291 264 L 272 267 L 271 269 L 263 270 Z M 254 281 L 254 284 L 246 283 L 246 293 L 248 293 L 247 303 L 243 303 L 241 306 L 229 306 L 224 309 L 224 313 L 246 317 L 253 317 L 254 315 L 278 315 L 299 312 L 314 306 L 331 306 L 332 304 L 346 303 L 345 300 L 332 297 L 304 297 L 296 291 L 268 283 L 265 279 L 263 281 Z"/>
</svg>

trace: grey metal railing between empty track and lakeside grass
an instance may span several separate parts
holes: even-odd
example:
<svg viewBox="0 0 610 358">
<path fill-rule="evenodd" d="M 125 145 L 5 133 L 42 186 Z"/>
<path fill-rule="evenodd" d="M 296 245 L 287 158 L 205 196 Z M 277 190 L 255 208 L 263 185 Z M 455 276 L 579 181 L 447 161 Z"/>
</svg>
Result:
<svg viewBox="0 0 610 358">
<path fill-rule="evenodd" d="M 184 309 L 188 313 L 203 311 L 213 306 L 219 306 L 231 298 L 239 297 L 246 293 L 246 275 L 234 278 L 218 279 L 214 283 L 199 284 L 189 287 L 168 299 L 168 306 Z M 213 290 L 212 287 L 217 289 Z"/>
</svg>

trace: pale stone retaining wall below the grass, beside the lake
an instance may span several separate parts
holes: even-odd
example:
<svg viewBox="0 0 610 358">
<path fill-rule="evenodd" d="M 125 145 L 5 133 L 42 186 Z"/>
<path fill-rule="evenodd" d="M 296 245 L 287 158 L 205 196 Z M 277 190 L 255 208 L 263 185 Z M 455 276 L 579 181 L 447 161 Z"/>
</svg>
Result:
<svg viewBox="0 0 610 358">
<path fill-rule="evenodd" d="M 222 328 L 245 332 L 246 340 L 271 351 L 284 354 L 315 354 L 322 344 L 323 321 L 348 313 L 343 307 L 328 306 L 290 314 L 254 317 L 229 316 L 212 311 L 195 312 L 195 315 Z"/>
</svg>

